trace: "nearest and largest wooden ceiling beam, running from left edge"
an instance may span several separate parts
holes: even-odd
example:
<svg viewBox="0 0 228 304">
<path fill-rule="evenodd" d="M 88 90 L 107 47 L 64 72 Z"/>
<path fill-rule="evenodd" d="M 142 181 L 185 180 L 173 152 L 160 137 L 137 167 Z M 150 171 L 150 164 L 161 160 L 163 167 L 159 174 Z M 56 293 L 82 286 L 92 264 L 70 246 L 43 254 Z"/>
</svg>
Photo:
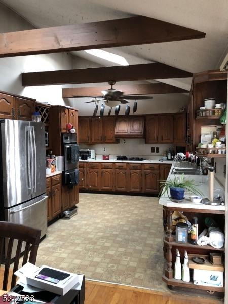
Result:
<svg viewBox="0 0 228 304">
<path fill-rule="evenodd" d="M 0 57 L 79 51 L 204 38 L 205 33 L 169 22 L 130 18 L 0 34 Z"/>
</svg>

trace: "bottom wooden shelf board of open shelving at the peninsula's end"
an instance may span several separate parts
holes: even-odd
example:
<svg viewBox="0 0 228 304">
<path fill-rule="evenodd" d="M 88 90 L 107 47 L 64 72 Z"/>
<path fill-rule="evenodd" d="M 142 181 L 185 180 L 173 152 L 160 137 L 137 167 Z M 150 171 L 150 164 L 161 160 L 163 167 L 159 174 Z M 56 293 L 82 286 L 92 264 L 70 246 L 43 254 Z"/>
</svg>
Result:
<svg viewBox="0 0 228 304">
<path fill-rule="evenodd" d="M 225 292 L 224 287 L 196 285 L 193 282 L 184 282 L 182 280 L 176 280 L 174 278 L 173 279 L 168 279 L 165 276 L 165 274 L 162 275 L 162 280 L 164 282 L 166 282 L 167 285 L 171 285 L 171 286 L 174 286 L 174 287 L 185 287 L 185 288 Z"/>
</svg>

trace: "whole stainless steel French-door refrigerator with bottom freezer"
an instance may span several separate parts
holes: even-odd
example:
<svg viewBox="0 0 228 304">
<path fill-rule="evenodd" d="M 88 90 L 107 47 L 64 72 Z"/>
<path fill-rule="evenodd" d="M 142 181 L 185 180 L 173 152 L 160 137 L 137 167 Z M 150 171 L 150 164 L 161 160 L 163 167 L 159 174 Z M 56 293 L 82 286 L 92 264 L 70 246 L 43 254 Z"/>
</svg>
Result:
<svg viewBox="0 0 228 304">
<path fill-rule="evenodd" d="M 0 120 L 0 217 L 47 233 L 45 125 Z"/>
</svg>

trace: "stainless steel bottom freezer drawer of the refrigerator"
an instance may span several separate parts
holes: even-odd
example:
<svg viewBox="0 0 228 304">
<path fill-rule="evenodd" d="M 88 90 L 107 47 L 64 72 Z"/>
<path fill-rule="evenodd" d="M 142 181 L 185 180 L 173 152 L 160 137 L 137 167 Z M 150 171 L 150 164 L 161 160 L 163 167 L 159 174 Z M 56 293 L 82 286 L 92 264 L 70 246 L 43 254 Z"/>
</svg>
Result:
<svg viewBox="0 0 228 304">
<path fill-rule="evenodd" d="M 47 197 L 39 196 L 29 202 L 5 210 L 5 220 L 41 229 L 41 238 L 47 233 Z"/>
</svg>

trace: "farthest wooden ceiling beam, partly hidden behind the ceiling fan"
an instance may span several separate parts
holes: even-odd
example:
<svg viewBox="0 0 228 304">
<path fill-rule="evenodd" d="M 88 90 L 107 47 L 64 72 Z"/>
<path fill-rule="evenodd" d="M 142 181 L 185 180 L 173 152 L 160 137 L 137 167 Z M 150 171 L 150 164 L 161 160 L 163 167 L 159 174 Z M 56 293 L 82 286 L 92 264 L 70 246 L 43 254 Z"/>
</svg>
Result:
<svg viewBox="0 0 228 304">
<path fill-rule="evenodd" d="M 103 96 L 101 91 L 107 90 L 109 85 L 100 87 L 81 87 L 62 89 L 63 98 Z M 168 84 L 140 84 L 140 85 L 114 85 L 114 88 L 124 92 L 124 95 L 149 95 L 167 93 L 189 93 L 189 91 Z"/>
</svg>

